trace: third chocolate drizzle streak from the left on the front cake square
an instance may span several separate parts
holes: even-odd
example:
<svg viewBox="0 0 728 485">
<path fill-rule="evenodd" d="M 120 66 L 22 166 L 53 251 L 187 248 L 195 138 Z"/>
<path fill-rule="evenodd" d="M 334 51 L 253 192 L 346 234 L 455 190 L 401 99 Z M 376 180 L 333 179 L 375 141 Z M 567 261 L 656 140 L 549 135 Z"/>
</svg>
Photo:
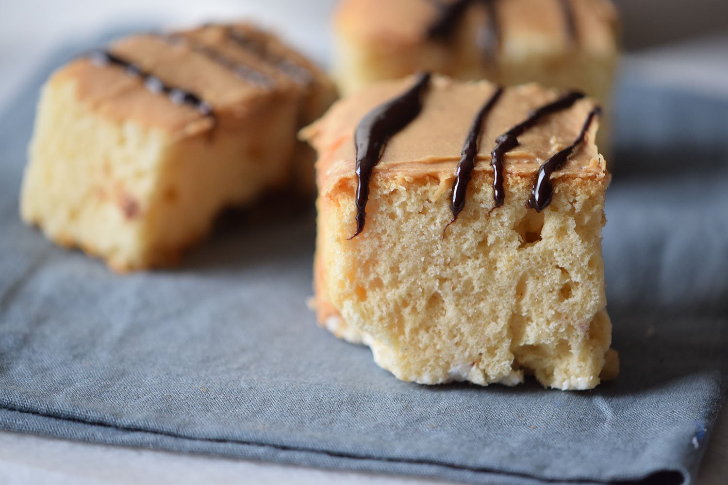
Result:
<svg viewBox="0 0 728 485">
<path fill-rule="evenodd" d="M 578 91 L 567 92 L 557 100 L 543 105 L 529 113 L 529 116 L 509 129 L 503 135 L 496 138 L 496 145 L 491 152 L 491 166 L 493 167 L 493 197 L 495 199 L 495 207 L 501 207 L 505 201 L 505 189 L 503 188 L 503 156 L 507 151 L 519 145 L 518 137 L 523 135 L 527 129 L 531 128 L 544 116 L 557 111 L 571 108 L 571 105 L 582 99 L 584 93 Z"/>
</svg>

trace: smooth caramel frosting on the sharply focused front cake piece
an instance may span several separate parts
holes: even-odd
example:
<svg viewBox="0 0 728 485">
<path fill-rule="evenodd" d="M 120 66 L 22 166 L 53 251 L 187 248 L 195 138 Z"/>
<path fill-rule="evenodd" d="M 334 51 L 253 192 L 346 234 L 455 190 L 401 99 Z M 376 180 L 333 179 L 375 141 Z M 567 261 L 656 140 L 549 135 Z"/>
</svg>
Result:
<svg viewBox="0 0 728 485">
<path fill-rule="evenodd" d="M 355 176 L 354 132 L 360 119 L 376 106 L 400 95 L 413 82 L 414 78 L 409 77 L 374 84 L 339 100 L 322 119 L 301 132 L 319 153 L 317 177 L 322 191 L 342 178 Z M 403 177 L 435 175 L 441 180 L 451 180 L 473 119 L 496 89 L 496 85 L 488 81 L 462 83 L 433 76 L 424 93 L 419 116 L 389 139 L 374 173 L 387 172 Z M 491 151 L 497 137 L 521 123 L 532 110 L 561 95 L 563 93 L 537 84 L 504 89 L 483 119 L 475 172 L 492 172 Z M 594 101 L 585 97 L 526 129 L 518 136 L 518 146 L 505 153 L 506 176 L 535 175 L 547 159 L 577 140 L 594 108 Z M 596 120 L 587 127 L 584 140 L 574 147 L 563 167 L 554 173 L 555 178 L 563 175 L 604 176 L 604 159 L 594 143 L 597 128 Z"/>
</svg>

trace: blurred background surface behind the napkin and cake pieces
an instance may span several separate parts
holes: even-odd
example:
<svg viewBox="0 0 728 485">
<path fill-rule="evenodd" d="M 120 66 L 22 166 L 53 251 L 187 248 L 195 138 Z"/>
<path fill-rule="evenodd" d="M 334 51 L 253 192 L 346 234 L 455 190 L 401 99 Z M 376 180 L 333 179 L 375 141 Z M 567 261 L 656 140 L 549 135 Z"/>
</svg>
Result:
<svg viewBox="0 0 728 485">
<path fill-rule="evenodd" d="M 622 12 L 625 51 L 646 57 L 641 68 L 682 63 L 670 78 L 728 91 L 728 2 L 615 0 Z M 326 19 L 336 0 L 1 0 L 0 108 L 57 45 L 109 31 L 251 17 L 325 62 Z M 291 21 L 293 19 L 293 21 Z M 649 56 L 644 56 L 649 54 Z M 629 59 L 629 57 L 628 57 Z M 655 71 L 656 70 L 656 71 Z M 673 68 L 673 71 L 676 71 Z M 695 72 L 697 71 L 697 72 Z M 695 78 L 695 79 L 694 79 Z"/>
</svg>

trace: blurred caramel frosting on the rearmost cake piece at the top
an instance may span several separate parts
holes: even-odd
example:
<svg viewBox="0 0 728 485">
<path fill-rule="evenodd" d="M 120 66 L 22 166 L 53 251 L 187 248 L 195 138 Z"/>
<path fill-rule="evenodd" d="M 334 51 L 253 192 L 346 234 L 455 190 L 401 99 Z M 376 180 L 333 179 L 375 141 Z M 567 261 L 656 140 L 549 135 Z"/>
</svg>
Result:
<svg viewBox="0 0 728 485">
<path fill-rule="evenodd" d="M 432 41 L 428 28 L 441 15 L 440 5 L 455 1 L 344 0 L 336 23 L 344 35 L 374 43 L 419 44 Z M 472 22 L 486 25 L 494 12 L 501 52 L 518 55 L 576 47 L 609 54 L 617 50 L 617 12 L 609 0 L 493 0 L 492 4 L 488 9 L 485 1 L 471 1 L 460 28 L 469 30 Z"/>
</svg>

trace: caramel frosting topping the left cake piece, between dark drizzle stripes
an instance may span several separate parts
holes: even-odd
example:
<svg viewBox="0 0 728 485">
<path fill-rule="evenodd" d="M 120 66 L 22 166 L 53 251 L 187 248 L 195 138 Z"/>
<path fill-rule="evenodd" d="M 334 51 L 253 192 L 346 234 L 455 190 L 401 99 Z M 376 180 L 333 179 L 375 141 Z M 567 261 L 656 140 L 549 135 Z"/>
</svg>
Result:
<svg viewBox="0 0 728 485">
<path fill-rule="evenodd" d="M 52 82 L 73 81 L 79 101 L 104 116 L 183 135 L 224 127 L 271 102 L 300 103 L 304 111 L 317 90 L 333 92 L 323 71 L 248 24 L 129 36 L 107 52 L 127 67 L 79 57 Z M 162 84 L 178 92 L 161 92 Z M 210 113 L 175 100 L 180 91 L 204 101 Z"/>
</svg>

